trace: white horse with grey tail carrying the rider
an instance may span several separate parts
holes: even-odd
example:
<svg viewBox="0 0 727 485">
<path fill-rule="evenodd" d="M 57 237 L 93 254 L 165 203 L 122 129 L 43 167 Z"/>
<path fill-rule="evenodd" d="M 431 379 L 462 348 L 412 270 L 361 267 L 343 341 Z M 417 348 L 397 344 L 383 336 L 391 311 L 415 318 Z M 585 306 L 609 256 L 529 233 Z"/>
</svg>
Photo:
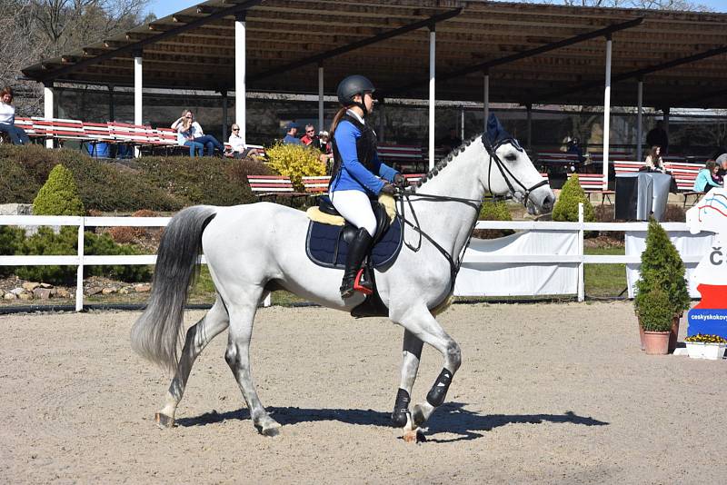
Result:
<svg viewBox="0 0 727 485">
<path fill-rule="evenodd" d="M 453 292 L 453 278 L 484 193 L 509 193 L 531 213 L 550 212 L 555 200 L 516 140 L 509 135 L 500 140 L 477 136 L 438 163 L 418 187 L 406 191 L 404 216 L 412 224 L 403 224 L 407 244 L 393 265 L 375 272 L 388 317 L 404 329 L 401 383 L 392 419 L 410 439 L 412 431 L 443 403 L 460 367 L 460 347 L 435 320 L 433 309 L 447 302 Z M 254 426 L 264 435 L 277 434 L 280 424 L 265 411 L 250 372 L 250 339 L 258 306 L 276 290 L 344 312 L 364 301 L 361 293 L 342 300 L 338 288 L 342 271 L 310 261 L 305 251 L 308 223 L 305 213 L 274 203 L 200 205 L 174 216 L 159 246 L 148 306 L 131 332 L 134 351 L 174 371 L 164 408 L 155 417 L 160 426 L 174 425 L 174 412 L 194 360 L 214 336 L 229 328 L 224 358 Z M 203 250 L 217 299 L 186 332 L 177 359 L 184 303 Z M 423 342 L 442 353 L 443 371 L 426 400 L 410 411 Z"/>
</svg>

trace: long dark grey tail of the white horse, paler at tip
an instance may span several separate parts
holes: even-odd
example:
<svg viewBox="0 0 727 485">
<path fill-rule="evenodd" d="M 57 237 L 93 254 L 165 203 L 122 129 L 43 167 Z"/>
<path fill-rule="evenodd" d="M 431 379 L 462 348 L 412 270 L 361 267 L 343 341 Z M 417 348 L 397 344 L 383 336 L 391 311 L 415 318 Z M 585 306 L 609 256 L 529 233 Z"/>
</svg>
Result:
<svg viewBox="0 0 727 485">
<path fill-rule="evenodd" d="M 216 213 L 210 206 L 189 207 L 166 226 L 156 253 L 149 302 L 131 329 L 132 349 L 169 370 L 174 370 L 177 362 L 184 304 L 198 269 L 202 233 Z"/>
</svg>

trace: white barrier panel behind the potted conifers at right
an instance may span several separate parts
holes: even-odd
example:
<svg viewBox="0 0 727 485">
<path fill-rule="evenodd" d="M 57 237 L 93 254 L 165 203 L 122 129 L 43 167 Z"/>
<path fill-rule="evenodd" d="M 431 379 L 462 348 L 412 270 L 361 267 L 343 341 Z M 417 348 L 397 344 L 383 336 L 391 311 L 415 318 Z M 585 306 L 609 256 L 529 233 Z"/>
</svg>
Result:
<svg viewBox="0 0 727 485">
<path fill-rule="evenodd" d="M 689 296 L 692 298 L 700 298 L 697 292 L 696 284 L 692 278 L 692 272 L 697 264 L 702 261 L 704 254 L 712 251 L 712 239 L 714 233 L 703 232 L 692 234 L 689 231 L 672 231 L 669 233 L 669 239 L 672 241 L 679 255 L 682 257 L 684 266 L 687 269 L 685 278 L 689 285 Z M 626 255 L 636 256 L 641 261 L 643 250 L 646 249 L 646 232 L 645 231 L 629 231 L 626 233 Z M 639 267 L 641 263 L 626 264 L 626 282 L 629 285 L 629 298 L 633 298 L 633 286 L 639 281 L 641 273 Z"/>
</svg>

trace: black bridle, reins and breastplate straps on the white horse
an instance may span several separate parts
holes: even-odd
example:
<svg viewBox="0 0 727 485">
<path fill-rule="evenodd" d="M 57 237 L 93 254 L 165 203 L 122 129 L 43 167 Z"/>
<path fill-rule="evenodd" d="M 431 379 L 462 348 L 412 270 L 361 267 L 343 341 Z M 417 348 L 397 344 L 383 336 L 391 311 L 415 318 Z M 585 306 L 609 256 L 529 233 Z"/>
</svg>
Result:
<svg viewBox="0 0 727 485">
<path fill-rule="evenodd" d="M 487 150 L 487 153 L 490 155 L 490 167 L 489 167 L 489 170 L 487 173 L 488 187 L 490 186 L 490 176 L 492 173 L 493 160 L 494 160 L 494 162 L 497 164 L 497 168 L 500 170 L 500 173 L 503 175 L 503 179 L 504 179 L 505 183 L 507 183 L 507 186 L 510 189 L 510 193 L 512 193 L 514 195 L 515 189 L 513 187 L 513 183 L 510 182 L 510 179 L 505 175 L 505 173 L 510 175 L 510 177 L 513 179 L 513 181 L 523 188 L 523 191 L 525 194 L 523 203 L 525 204 L 525 206 L 527 206 L 528 199 L 530 198 L 530 193 L 532 193 L 535 189 L 542 187 L 543 185 L 547 185 L 548 181 L 543 180 L 539 183 L 535 183 L 529 189 L 526 188 L 523 185 L 523 183 L 521 183 L 513 175 L 512 172 L 510 172 L 510 170 L 503 163 L 503 161 L 500 160 L 500 157 L 497 156 L 497 153 L 496 153 L 497 148 L 499 148 L 502 144 L 505 144 L 505 143 L 513 144 L 513 147 L 516 150 L 518 150 L 519 152 L 523 152 L 523 148 L 520 146 L 518 141 L 515 140 L 514 138 L 505 138 L 503 140 L 498 141 L 497 144 L 495 144 L 493 146 L 493 144 L 491 144 L 489 140 L 486 140 L 486 138 L 487 138 L 486 135 L 483 134 L 483 136 L 482 136 L 483 145 L 484 145 L 484 148 Z M 436 173 L 436 171 L 434 173 Z M 442 253 L 442 255 L 444 256 L 444 259 L 446 259 L 447 262 L 449 262 L 449 267 L 450 267 L 449 294 L 452 294 L 454 292 L 454 282 L 457 279 L 457 273 L 460 271 L 460 268 L 462 267 L 464 252 L 467 250 L 467 248 L 470 246 L 470 243 L 472 242 L 474 226 L 477 225 L 477 214 L 479 214 L 480 211 L 482 210 L 483 200 L 482 199 L 480 199 L 480 200 L 465 199 L 462 197 L 451 197 L 448 195 L 433 195 L 431 193 L 415 193 L 415 192 L 410 192 L 410 191 L 402 189 L 402 188 L 400 188 L 400 190 L 397 192 L 399 195 L 398 200 L 397 200 L 397 202 L 399 203 L 399 207 L 397 207 L 396 212 L 398 213 L 399 217 L 401 217 L 401 220 L 404 224 L 411 227 L 416 233 L 419 233 L 419 241 L 416 243 L 416 245 L 407 243 L 405 239 L 403 240 L 403 243 L 406 245 L 407 248 L 409 248 L 413 252 L 419 252 L 419 250 L 422 249 L 422 239 L 426 239 L 427 241 L 432 243 L 432 245 L 437 249 L 437 251 Z M 475 210 L 475 216 L 474 216 L 473 223 L 470 226 L 469 236 L 467 237 L 467 241 L 466 241 L 466 243 L 464 243 L 462 250 L 460 250 L 460 252 L 457 254 L 456 260 L 453 258 L 452 254 L 447 252 L 447 250 L 442 247 L 442 245 L 440 243 L 437 243 L 436 241 L 434 241 L 432 236 L 423 232 L 422 228 L 419 226 L 419 219 L 416 217 L 416 213 L 414 212 L 414 208 L 413 208 L 412 201 L 411 201 L 412 197 L 418 197 L 420 199 L 428 199 L 430 201 L 437 201 L 437 202 L 463 203 L 469 207 L 472 207 Z M 409 210 L 412 212 L 413 221 L 414 221 L 413 223 L 411 221 L 409 221 L 408 219 L 406 219 L 405 210 L 406 210 L 407 205 L 409 206 Z"/>
</svg>

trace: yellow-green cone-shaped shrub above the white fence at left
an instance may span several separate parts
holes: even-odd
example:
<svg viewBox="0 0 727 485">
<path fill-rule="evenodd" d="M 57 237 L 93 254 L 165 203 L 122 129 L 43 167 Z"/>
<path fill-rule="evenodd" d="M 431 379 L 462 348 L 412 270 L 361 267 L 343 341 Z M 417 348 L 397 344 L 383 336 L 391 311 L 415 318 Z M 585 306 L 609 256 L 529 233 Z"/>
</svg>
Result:
<svg viewBox="0 0 727 485">
<path fill-rule="evenodd" d="M 84 203 L 78 197 L 74 175 L 65 166 L 55 165 L 48 180 L 33 201 L 35 215 L 84 215 Z"/>
</svg>

